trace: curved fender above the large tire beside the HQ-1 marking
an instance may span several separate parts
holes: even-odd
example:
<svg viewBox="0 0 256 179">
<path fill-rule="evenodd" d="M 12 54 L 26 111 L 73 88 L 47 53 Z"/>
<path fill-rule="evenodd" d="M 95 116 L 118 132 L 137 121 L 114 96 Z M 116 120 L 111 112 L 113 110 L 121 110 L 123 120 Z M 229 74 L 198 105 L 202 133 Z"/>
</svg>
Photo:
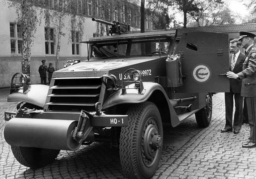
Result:
<svg viewBox="0 0 256 179">
<path fill-rule="evenodd" d="M 141 103 L 145 101 L 154 102 L 161 114 L 163 122 L 170 122 L 173 127 L 180 124 L 180 120 L 169 101 L 169 98 L 164 91 L 163 87 L 155 82 L 143 82 L 145 89 L 144 94 L 141 94 L 138 89 L 126 89 L 123 93 L 122 90 L 117 91 L 108 97 L 102 110 L 107 108 L 120 105 L 120 104 L 131 104 Z"/>
</svg>

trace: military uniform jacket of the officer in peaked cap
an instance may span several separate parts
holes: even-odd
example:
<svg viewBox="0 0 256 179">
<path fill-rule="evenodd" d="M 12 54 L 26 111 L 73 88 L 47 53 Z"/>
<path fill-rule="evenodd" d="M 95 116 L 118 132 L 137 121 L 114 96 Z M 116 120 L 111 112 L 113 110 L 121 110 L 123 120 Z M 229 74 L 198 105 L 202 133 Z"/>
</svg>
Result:
<svg viewBox="0 0 256 179">
<path fill-rule="evenodd" d="M 237 74 L 242 80 L 241 96 L 256 97 L 256 46 L 246 52 L 243 61 L 243 71 Z"/>
</svg>

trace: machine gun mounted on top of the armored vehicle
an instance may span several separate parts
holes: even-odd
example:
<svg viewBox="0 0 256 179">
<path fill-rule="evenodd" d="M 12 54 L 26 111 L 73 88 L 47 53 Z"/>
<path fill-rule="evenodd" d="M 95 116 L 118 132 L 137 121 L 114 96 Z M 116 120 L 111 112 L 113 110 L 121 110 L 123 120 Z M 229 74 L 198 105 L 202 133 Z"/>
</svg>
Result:
<svg viewBox="0 0 256 179">
<path fill-rule="evenodd" d="M 95 19 L 92 18 L 93 21 L 96 21 L 98 23 L 103 23 L 106 25 L 111 26 L 109 33 L 112 34 L 124 34 L 126 31 L 130 31 L 130 25 L 128 23 L 119 23 L 116 21 L 108 22 L 105 20 Z"/>
</svg>

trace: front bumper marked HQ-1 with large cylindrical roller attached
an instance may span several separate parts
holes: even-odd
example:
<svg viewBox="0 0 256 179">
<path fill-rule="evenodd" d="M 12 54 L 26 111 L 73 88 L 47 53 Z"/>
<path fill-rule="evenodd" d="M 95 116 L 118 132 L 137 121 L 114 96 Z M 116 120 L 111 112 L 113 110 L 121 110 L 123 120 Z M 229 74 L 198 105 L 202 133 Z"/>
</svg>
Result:
<svg viewBox="0 0 256 179">
<path fill-rule="evenodd" d="M 75 151 L 88 136 L 94 134 L 93 127 L 128 126 L 127 115 L 86 114 L 87 123 L 79 138 L 76 131 L 81 128 L 81 113 L 37 113 L 20 109 L 16 117 L 6 118 L 9 121 L 6 122 L 4 137 L 9 145 L 14 146 Z"/>
</svg>

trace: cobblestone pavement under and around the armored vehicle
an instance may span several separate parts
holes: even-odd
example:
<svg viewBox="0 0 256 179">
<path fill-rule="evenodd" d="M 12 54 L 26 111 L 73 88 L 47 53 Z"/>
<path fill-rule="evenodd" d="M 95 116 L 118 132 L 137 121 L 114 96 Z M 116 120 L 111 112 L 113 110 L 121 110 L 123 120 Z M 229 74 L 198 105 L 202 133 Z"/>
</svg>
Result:
<svg viewBox="0 0 256 179">
<path fill-rule="evenodd" d="M 123 179 L 119 152 L 108 144 L 94 142 L 78 151 L 61 151 L 44 168 L 33 170 L 14 158 L 5 142 L 4 111 L 15 110 L 6 101 L 9 90 L 0 90 L 0 179 Z M 256 179 L 256 148 L 241 148 L 248 141 L 250 127 L 239 134 L 221 133 L 225 125 L 224 94 L 213 96 L 212 122 L 198 128 L 195 116 L 176 128 L 163 125 L 163 154 L 153 179 Z"/>
</svg>

